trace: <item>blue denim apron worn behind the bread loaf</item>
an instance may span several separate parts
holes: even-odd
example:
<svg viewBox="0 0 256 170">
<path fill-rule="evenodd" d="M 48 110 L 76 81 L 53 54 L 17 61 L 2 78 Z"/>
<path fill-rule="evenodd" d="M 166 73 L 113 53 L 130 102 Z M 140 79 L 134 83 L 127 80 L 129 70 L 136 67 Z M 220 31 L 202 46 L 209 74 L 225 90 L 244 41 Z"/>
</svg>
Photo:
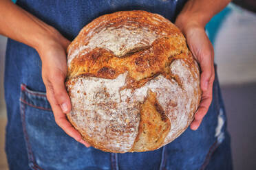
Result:
<svg viewBox="0 0 256 170">
<path fill-rule="evenodd" d="M 21 6 L 73 40 L 90 21 L 120 10 L 147 10 L 174 21 L 178 0 L 18 0 Z M 232 169 L 226 116 L 217 76 L 213 102 L 200 128 L 140 153 L 113 154 L 85 147 L 56 125 L 45 96 L 41 60 L 32 47 L 8 39 L 5 97 L 6 154 L 10 169 Z"/>
</svg>

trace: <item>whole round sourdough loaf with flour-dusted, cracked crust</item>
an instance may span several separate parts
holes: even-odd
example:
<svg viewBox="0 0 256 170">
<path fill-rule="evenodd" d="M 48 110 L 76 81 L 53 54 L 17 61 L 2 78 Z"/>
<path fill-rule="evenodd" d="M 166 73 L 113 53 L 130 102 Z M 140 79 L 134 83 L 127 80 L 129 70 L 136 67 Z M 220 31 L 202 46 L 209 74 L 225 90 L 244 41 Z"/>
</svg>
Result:
<svg viewBox="0 0 256 170">
<path fill-rule="evenodd" d="M 100 16 L 67 53 L 67 118 L 93 147 L 151 151 L 193 120 L 201 99 L 198 64 L 178 27 L 159 14 Z"/>
</svg>

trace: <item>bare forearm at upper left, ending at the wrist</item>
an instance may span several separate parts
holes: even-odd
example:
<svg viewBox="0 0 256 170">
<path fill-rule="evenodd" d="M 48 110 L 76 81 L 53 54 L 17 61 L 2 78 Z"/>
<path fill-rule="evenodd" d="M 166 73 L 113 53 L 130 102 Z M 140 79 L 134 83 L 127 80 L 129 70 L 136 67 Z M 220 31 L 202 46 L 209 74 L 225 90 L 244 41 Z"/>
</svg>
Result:
<svg viewBox="0 0 256 170">
<path fill-rule="evenodd" d="M 0 1 L 0 34 L 34 49 L 56 38 L 56 30 L 10 0 Z"/>
</svg>

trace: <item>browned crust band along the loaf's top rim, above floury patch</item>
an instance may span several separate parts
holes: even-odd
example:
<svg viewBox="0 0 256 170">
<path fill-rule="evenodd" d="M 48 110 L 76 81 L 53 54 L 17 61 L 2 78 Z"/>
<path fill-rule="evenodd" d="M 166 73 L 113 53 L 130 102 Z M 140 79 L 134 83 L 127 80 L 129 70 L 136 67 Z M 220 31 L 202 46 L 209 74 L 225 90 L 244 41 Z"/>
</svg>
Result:
<svg viewBox="0 0 256 170">
<path fill-rule="evenodd" d="M 168 23 L 162 22 L 164 17 L 158 14 L 152 14 L 150 12 L 142 10 L 133 11 L 120 11 L 112 14 L 105 14 L 103 16 L 94 19 L 91 23 L 87 24 L 76 38 L 67 47 L 67 52 L 72 53 L 78 49 L 78 44 L 87 45 L 90 38 L 94 36 L 89 34 L 90 32 L 98 33 L 100 29 L 106 27 L 123 27 L 123 25 L 131 26 L 130 29 L 136 29 L 136 27 L 148 27 L 156 34 L 166 32 L 168 35 L 183 36 L 180 30 L 173 25 L 170 21 Z M 164 19 L 168 21 L 167 19 Z"/>
</svg>

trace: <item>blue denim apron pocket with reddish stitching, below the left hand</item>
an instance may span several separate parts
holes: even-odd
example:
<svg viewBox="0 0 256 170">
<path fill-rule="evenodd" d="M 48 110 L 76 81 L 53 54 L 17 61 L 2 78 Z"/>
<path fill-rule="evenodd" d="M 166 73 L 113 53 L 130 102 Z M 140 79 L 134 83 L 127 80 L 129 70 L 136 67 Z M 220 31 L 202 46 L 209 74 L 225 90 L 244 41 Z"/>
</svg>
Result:
<svg viewBox="0 0 256 170">
<path fill-rule="evenodd" d="M 85 147 L 58 127 L 45 93 L 21 84 L 20 110 L 31 169 L 109 169 L 109 153 Z"/>
</svg>

